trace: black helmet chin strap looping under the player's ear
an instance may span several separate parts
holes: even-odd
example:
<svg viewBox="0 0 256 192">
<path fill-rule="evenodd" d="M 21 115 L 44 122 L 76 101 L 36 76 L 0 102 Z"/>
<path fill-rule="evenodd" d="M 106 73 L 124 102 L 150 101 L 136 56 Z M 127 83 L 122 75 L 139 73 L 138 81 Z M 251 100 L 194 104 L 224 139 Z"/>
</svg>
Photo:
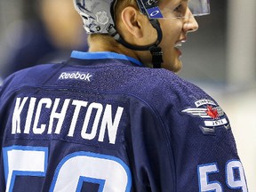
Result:
<svg viewBox="0 0 256 192">
<path fill-rule="evenodd" d="M 163 38 L 162 29 L 160 27 L 160 23 L 158 20 L 151 19 L 149 20 L 153 28 L 156 28 L 157 32 L 157 39 L 156 42 L 153 44 L 148 44 L 144 46 L 138 46 L 129 44 L 126 41 L 124 41 L 124 38 L 118 34 L 116 31 L 116 28 L 113 25 L 110 25 L 108 28 L 108 34 L 112 36 L 116 41 L 120 44 L 123 44 L 125 47 L 135 50 L 135 51 L 150 51 L 152 55 L 152 63 L 154 68 L 161 68 L 161 64 L 164 62 L 163 60 L 163 52 L 161 47 L 158 46 L 158 44 L 161 43 Z"/>
</svg>

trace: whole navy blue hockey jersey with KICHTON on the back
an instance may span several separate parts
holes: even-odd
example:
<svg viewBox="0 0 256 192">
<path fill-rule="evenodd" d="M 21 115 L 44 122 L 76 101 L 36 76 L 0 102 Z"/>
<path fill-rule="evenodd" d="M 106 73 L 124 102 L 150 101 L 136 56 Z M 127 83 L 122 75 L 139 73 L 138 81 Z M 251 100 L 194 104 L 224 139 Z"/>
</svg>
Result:
<svg viewBox="0 0 256 192">
<path fill-rule="evenodd" d="M 0 90 L 0 191 L 247 191 L 228 116 L 196 85 L 72 52 Z"/>
</svg>

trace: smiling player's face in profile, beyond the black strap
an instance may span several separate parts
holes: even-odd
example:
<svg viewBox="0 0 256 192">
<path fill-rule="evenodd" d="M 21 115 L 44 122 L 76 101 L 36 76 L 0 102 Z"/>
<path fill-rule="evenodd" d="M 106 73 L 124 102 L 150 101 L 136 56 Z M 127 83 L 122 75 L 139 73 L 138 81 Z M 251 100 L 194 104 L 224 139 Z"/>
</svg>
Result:
<svg viewBox="0 0 256 192">
<path fill-rule="evenodd" d="M 196 31 L 198 24 L 188 9 L 188 1 L 172 0 L 166 2 L 160 6 L 171 10 L 164 13 L 169 14 L 165 16 L 168 19 L 159 19 L 163 31 L 163 40 L 160 44 L 164 52 L 162 68 L 178 72 L 182 67 L 180 46 L 187 41 L 188 32 Z M 182 18 L 179 18 L 180 15 Z"/>
</svg>

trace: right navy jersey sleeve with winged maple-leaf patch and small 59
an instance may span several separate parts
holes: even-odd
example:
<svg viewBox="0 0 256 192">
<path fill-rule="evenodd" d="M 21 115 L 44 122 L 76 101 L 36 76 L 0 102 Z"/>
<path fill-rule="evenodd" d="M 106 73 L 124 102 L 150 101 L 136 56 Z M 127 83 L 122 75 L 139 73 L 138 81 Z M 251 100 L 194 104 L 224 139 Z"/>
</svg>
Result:
<svg viewBox="0 0 256 192">
<path fill-rule="evenodd" d="M 177 191 L 248 190 L 228 116 L 215 100 L 194 88 L 162 113 Z"/>
</svg>

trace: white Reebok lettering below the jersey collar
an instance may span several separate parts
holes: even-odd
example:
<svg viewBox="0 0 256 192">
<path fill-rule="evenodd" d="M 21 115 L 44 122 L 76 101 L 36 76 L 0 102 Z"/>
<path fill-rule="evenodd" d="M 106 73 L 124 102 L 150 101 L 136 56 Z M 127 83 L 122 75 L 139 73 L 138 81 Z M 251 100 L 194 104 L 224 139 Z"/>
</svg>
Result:
<svg viewBox="0 0 256 192">
<path fill-rule="evenodd" d="M 77 72 L 63 72 L 59 76 L 59 80 L 68 80 L 68 79 L 76 79 L 91 82 L 92 75 L 90 73 L 81 73 Z"/>
</svg>

